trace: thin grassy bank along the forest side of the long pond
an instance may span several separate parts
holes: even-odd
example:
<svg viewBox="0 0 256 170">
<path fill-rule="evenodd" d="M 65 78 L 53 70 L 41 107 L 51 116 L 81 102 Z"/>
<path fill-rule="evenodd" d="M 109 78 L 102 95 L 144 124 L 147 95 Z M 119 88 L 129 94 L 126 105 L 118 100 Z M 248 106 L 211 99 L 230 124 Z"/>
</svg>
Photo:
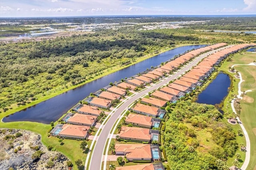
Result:
<svg viewBox="0 0 256 170">
<path fill-rule="evenodd" d="M 90 79 L 90 80 L 87 80 L 87 81 L 85 81 L 85 82 L 82 82 L 82 83 L 80 83 L 80 84 L 70 85 L 70 86 L 68 86 L 68 88 L 63 88 L 62 90 L 57 90 L 57 89 L 60 89 L 60 88 L 61 88 L 61 86 L 58 86 L 58 87 L 53 88 L 53 89 L 51 89 L 51 90 L 45 91 L 45 92 L 44 92 L 45 96 L 44 96 L 44 97 L 41 97 L 41 98 L 40 98 L 40 96 L 42 96 L 42 94 L 37 94 L 37 95 L 35 96 L 35 98 L 38 98 L 38 97 L 39 97 L 40 99 L 34 100 L 34 101 L 32 101 L 32 102 L 29 101 L 29 102 L 30 102 L 29 104 L 26 104 L 26 105 L 23 105 L 23 106 L 21 105 L 20 107 L 17 106 L 17 103 L 12 104 L 12 109 L 8 109 L 6 112 L 4 112 L 4 111 L 1 109 L 1 111 L 2 111 L 1 116 L 0 116 L 1 123 L 2 123 L 2 119 L 3 119 L 4 117 L 6 117 L 7 115 L 16 113 L 16 112 L 21 111 L 21 110 L 23 110 L 23 109 L 26 109 L 26 108 L 28 108 L 28 107 L 35 106 L 36 104 L 39 104 L 39 103 L 41 103 L 41 102 L 44 102 L 44 101 L 46 101 L 46 100 L 48 100 L 48 99 L 50 99 L 50 98 L 54 98 L 55 96 L 58 96 L 58 95 L 60 95 L 60 94 L 62 94 L 62 93 L 65 93 L 65 92 L 68 92 L 69 90 L 78 88 L 78 87 L 80 87 L 80 86 L 82 86 L 82 85 L 84 85 L 84 84 L 86 84 L 86 83 L 89 83 L 89 82 L 92 82 L 92 81 L 97 80 L 97 79 L 99 79 L 99 78 L 102 78 L 102 77 L 104 77 L 104 76 L 106 76 L 106 75 L 108 75 L 108 74 L 112 74 L 112 73 L 114 73 L 114 72 L 116 72 L 116 71 L 122 70 L 122 69 L 127 68 L 127 67 L 129 67 L 129 66 L 132 66 L 132 65 L 134 65 L 134 64 L 140 63 L 141 61 L 144 61 L 144 60 L 149 59 L 149 58 L 151 58 L 151 57 L 155 57 L 156 55 L 160 55 L 161 53 L 164 53 L 164 52 L 166 52 L 166 51 L 175 49 L 175 48 L 177 48 L 177 47 L 183 47 L 183 46 L 186 46 L 186 45 L 202 45 L 202 44 L 182 44 L 182 45 L 176 45 L 175 47 L 163 48 L 163 49 L 160 49 L 160 52 L 159 52 L 158 54 L 151 54 L 151 55 L 148 54 L 148 55 L 144 55 L 143 57 L 138 58 L 137 61 L 134 62 L 134 63 L 128 64 L 128 65 L 125 65 L 125 66 L 119 66 L 119 65 L 117 65 L 117 66 L 114 66 L 114 67 L 112 67 L 112 68 L 105 69 L 105 70 L 104 70 L 104 71 L 106 71 L 105 74 L 103 73 L 103 74 L 101 74 L 101 75 L 95 76 L 94 78 L 92 78 L 92 79 Z M 111 69 L 111 70 L 110 70 L 110 69 Z M 109 70 L 109 71 L 108 71 L 108 70 Z M 104 71 L 103 71 L 103 72 L 104 72 Z M 66 85 L 68 85 L 68 84 L 70 84 L 70 83 L 67 83 Z M 47 92 L 50 92 L 51 94 L 48 94 L 48 95 L 47 95 Z"/>
</svg>

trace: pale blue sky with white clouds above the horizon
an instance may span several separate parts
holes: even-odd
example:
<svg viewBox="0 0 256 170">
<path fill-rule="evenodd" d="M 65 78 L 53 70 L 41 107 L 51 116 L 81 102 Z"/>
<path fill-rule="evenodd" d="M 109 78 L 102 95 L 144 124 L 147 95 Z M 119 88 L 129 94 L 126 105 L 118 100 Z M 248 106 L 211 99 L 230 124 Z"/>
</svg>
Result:
<svg viewBox="0 0 256 170">
<path fill-rule="evenodd" d="M 256 0 L 0 0 L 0 17 L 256 14 Z"/>
</svg>

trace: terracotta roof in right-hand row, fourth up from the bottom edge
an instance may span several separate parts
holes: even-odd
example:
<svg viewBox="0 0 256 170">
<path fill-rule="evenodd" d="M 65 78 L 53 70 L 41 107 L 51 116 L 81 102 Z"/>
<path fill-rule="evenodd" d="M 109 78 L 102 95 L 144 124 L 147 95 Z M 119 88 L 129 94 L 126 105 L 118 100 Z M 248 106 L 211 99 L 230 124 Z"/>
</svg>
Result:
<svg viewBox="0 0 256 170">
<path fill-rule="evenodd" d="M 152 126 L 152 124 L 153 124 L 152 117 L 140 115 L 140 114 L 132 114 L 132 113 L 130 113 L 127 116 L 125 121 L 132 122 L 132 123 L 138 123 L 141 125 L 149 125 L 149 126 Z"/>
</svg>

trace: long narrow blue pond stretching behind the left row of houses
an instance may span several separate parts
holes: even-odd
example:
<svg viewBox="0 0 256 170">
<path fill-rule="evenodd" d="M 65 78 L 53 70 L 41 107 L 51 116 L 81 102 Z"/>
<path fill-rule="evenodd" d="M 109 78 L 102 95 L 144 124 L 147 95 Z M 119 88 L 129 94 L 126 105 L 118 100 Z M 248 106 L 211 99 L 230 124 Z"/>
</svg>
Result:
<svg viewBox="0 0 256 170">
<path fill-rule="evenodd" d="M 134 76 L 145 71 L 151 66 L 158 66 L 162 62 L 172 59 L 175 55 L 182 54 L 188 50 L 197 49 L 206 45 L 188 45 L 178 47 L 144 61 L 134 64 L 102 78 L 86 83 L 78 88 L 64 92 L 58 96 L 50 98 L 44 102 L 28 107 L 22 111 L 4 117 L 2 121 L 34 121 L 49 124 L 51 121 L 58 120 L 64 113 L 74 107 L 80 100 L 89 96 L 97 90 L 108 86 L 110 82 L 120 81 L 122 78 Z"/>
</svg>

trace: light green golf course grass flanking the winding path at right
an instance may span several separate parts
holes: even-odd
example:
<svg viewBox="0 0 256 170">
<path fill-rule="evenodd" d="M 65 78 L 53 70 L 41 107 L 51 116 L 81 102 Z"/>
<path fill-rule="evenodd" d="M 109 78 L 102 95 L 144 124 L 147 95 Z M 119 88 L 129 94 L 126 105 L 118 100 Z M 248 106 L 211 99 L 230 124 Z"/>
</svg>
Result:
<svg viewBox="0 0 256 170">
<path fill-rule="evenodd" d="M 249 64 L 252 63 L 254 60 L 256 60 L 256 54 L 246 52 L 241 54 L 235 54 L 232 58 L 232 61 L 225 61 L 222 64 L 220 70 L 231 75 L 231 77 L 233 78 L 233 88 L 225 99 L 223 105 L 223 110 L 225 112 L 232 113 L 232 109 L 230 106 L 231 94 L 238 94 L 238 82 L 240 81 L 239 79 L 234 78 L 235 73 L 229 72 L 228 68 L 234 64 Z M 242 79 L 244 80 L 244 82 L 242 82 L 241 90 L 252 90 L 252 92 L 247 92 L 246 96 L 244 96 L 244 98 L 240 102 L 240 105 L 242 107 L 240 118 L 249 135 L 251 145 L 250 163 L 247 167 L 247 170 L 254 170 L 256 168 L 256 66 L 238 65 L 234 66 L 234 68 L 241 72 Z M 234 129 L 239 128 L 237 126 L 239 125 L 234 125 L 232 127 Z M 240 143 L 239 140 L 238 143 Z M 245 144 L 245 142 L 243 143 Z"/>
</svg>

